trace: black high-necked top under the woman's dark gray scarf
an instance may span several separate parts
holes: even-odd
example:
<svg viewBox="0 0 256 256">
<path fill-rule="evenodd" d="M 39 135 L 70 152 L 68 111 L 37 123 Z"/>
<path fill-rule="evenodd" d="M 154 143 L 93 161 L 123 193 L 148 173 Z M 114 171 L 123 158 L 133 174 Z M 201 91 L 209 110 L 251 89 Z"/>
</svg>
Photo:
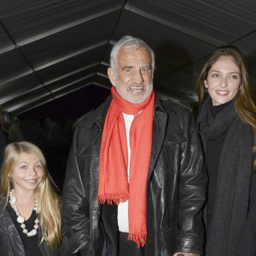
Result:
<svg viewBox="0 0 256 256">
<path fill-rule="evenodd" d="M 227 102 L 222 105 L 213 106 L 211 103 L 211 114 L 215 118 L 218 113 L 220 113 L 230 102 Z M 211 216 L 213 212 L 214 202 L 215 202 L 215 190 L 218 180 L 218 166 L 219 159 L 226 138 L 226 133 L 223 133 L 221 136 L 214 139 L 207 139 L 207 169 L 209 176 L 208 184 L 208 203 L 207 203 L 207 226 L 211 222 Z"/>
</svg>

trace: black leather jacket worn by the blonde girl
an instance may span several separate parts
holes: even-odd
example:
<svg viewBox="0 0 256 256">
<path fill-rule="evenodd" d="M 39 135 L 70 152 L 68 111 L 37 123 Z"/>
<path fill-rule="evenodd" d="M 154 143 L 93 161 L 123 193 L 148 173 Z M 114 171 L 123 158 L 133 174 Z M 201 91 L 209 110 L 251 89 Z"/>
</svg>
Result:
<svg viewBox="0 0 256 256">
<path fill-rule="evenodd" d="M 38 232 L 41 229 L 39 226 Z M 52 252 L 44 241 L 40 246 L 43 256 L 58 256 L 58 252 Z M 8 210 L 4 207 L 4 202 L 0 202 L 0 255 L 3 256 L 26 256 L 26 248 L 16 229 L 15 224 Z"/>
</svg>

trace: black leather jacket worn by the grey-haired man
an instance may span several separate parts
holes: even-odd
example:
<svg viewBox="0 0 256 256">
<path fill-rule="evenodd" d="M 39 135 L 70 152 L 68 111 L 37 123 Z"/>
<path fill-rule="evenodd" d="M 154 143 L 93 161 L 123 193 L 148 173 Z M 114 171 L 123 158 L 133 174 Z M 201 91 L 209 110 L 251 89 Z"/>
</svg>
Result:
<svg viewBox="0 0 256 256">
<path fill-rule="evenodd" d="M 99 152 L 112 97 L 76 124 L 63 190 L 63 256 L 117 256 L 117 207 L 97 203 Z M 147 128 L 147 124 L 145 124 Z M 203 253 L 207 192 L 203 151 L 191 110 L 156 98 L 147 179 L 147 256 Z"/>
</svg>

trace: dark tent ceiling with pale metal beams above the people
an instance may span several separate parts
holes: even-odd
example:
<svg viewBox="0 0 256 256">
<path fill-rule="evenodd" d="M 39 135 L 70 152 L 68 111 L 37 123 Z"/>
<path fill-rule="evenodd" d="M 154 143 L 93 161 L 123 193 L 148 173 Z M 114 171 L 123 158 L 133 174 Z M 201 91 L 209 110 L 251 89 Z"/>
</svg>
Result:
<svg viewBox="0 0 256 256">
<path fill-rule="evenodd" d="M 0 110 L 20 114 L 74 90 L 110 88 L 109 53 L 121 36 L 156 53 L 159 97 L 197 101 L 211 53 L 233 44 L 248 56 L 256 92 L 254 0 L 1 0 Z"/>
</svg>

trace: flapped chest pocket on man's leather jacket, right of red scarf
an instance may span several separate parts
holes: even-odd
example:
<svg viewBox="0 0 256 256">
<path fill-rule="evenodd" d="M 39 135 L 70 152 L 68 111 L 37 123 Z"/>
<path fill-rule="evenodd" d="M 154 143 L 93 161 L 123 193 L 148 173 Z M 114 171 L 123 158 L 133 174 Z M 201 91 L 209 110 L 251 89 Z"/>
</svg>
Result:
<svg viewBox="0 0 256 256">
<path fill-rule="evenodd" d="M 182 131 L 167 132 L 158 158 L 160 173 L 178 173 L 181 157 L 181 143 L 186 142 Z"/>
</svg>

